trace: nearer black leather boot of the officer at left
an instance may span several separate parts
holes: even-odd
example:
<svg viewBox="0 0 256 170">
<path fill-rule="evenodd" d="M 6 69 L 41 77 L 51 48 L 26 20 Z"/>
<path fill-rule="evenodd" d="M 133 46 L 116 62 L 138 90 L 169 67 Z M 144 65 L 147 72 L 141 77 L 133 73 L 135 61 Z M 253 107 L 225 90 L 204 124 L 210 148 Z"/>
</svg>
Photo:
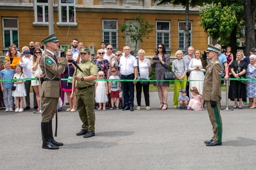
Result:
<svg viewBox="0 0 256 170">
<path fill-rule="evenodd" d="M 58 146 L 51 143 L 49 139 L 49 122 L 41 122 L 41 130 L 42 130 L 42 148 L 48 150 L 58 150 Z"/>
</svg>

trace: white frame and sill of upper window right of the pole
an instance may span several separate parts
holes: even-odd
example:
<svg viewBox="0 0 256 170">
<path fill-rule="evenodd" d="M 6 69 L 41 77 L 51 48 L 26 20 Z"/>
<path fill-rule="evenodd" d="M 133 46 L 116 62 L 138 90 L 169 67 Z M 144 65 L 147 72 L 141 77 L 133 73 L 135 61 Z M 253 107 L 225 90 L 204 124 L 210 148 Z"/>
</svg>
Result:
<svg viewBox="0 0 256 170">
<path fill-rule="evenodd" d="M 77 26 L 76 23 L 76 0 L 74 0 L 74 3 L 61 3 L 62 0 L 58 0 L 58 20 L 57 26 Z M 62 7 L 65 7 L 67 9 L 67 22 L 62 22 Z M 74 22 L 69 21 L 69 7 L 74 8 L 74 15 L 73 19 Z"/>
</svg>

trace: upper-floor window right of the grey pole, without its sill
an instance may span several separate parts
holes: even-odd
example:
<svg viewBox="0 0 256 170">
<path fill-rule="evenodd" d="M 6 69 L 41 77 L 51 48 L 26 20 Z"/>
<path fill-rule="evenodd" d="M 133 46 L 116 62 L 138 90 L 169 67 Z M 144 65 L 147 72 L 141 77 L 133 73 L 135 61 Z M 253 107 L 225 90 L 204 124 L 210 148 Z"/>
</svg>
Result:
<svg viewBox="0 0 256 170">
<path fill-rule="evenodd" d="M 59 20 L 60 23 L 76 22 L 76 11 L 74 0 L 59 0 Z"/>
</svg>

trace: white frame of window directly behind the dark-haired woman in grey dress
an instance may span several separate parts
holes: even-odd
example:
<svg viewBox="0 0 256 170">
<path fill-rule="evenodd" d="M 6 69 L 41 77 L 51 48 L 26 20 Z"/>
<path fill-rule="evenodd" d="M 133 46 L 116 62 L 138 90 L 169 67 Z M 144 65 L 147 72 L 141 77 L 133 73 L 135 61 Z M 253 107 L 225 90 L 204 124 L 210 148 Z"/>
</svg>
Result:
<svg viewBox="0 0 256 170">
<path fill-rule="evenodd" d="M 157 29 L 157 22 L 166 22 L 166 23 L 169 23 L 169 29 L 168 30 L 158 30 Z M 164 46 L 166 47 L 166 50 L 167 51 L 170 51 L 171 50 L 171 21 L 170 20 L 156 20 L 155 22 L 155 30 L 156 30 L 156 34 L 155 34 L 155 40 L 156 40 L 156 45 L 155 45 L 155 48 L 157 49 L 157 45 L 159 43 L 163 43 Z M 162 34 L 162 38 L 161 40 L 158 40 L 158 34 Z M 166 43 L 166 40 L 165 40 L 165 36 L 168 35 L 169 38 L 167 40 L 167 43 Z"/>
</svg>

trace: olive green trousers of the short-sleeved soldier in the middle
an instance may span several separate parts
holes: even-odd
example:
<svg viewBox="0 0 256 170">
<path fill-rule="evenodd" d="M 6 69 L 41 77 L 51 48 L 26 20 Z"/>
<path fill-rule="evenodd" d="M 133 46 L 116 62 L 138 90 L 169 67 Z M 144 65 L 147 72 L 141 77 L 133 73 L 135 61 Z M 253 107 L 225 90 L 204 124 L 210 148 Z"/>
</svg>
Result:
<svg viewBox="0 0 256 170">
<path fill-rule="evenodd" d="M 94 93 L 93 87 L 76 90 L 76 105 L 83 123 L 81 127 L 92 132 L 95 130 Z"/>
</svg>

